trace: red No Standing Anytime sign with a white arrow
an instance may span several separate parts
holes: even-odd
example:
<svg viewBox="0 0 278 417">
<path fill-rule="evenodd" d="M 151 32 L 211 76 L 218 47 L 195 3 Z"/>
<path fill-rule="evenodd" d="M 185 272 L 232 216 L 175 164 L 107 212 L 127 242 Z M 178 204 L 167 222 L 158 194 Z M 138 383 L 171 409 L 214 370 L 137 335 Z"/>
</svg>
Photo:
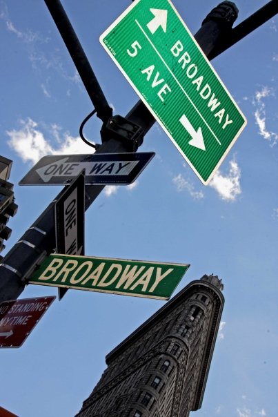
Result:
<svg viewBox="0 0 278 417">
<path fill-rule="evenodd" d="M 1 302 L 0 347 L 20 347 L 55 298 L 23 298 Z"/>
</svg>

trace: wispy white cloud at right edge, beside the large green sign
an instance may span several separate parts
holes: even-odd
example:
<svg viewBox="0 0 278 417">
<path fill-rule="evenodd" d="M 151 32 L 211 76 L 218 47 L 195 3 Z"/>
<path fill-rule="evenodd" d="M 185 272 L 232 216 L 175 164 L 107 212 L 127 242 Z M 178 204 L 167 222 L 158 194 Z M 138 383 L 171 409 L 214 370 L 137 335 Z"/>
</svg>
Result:
<svg viewBox="0 0 278 417">
<path fill-rule="evenodd" d="M 278 141 L 278 133 L 270 130 L 266 126 L 266 99 L 268 99 L 268 97 L 275 97 L 275 92 L 273 88 L 264 86 L 261 90 L 256 91 L 255 98 L 253 99 L 253 105 L 256 107 L 255 122 L 259 127 L 259 135 L 268 140 L 271 146 L 273 146 Z"/>
</svg>

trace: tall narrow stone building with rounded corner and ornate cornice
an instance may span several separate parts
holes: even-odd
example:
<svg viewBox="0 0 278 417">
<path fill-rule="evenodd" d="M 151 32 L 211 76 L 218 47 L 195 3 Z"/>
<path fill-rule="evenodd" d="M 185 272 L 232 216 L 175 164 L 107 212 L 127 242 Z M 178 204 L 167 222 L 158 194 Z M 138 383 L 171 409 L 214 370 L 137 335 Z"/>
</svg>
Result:
<svg viewBox="0 0 278 417">
<path fill-rule="evenodd" d="M 224 306 L 203 275 L 106 356 L 108 367 L 76 417 L 187 417 L 201 407 Z"/>
</svg>

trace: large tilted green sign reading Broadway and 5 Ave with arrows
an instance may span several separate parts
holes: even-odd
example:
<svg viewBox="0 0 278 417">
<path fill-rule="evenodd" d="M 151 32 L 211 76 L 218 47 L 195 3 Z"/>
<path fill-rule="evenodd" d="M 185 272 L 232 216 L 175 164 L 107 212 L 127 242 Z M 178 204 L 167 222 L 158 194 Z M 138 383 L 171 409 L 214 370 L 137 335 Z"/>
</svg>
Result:
<svg viewBox="0 0 278 417">
<path fill-rule="evenodd" d="M 169 0 L 135 0 L 101 44 L 208 184 L 246 119 Z"/>
</svg>

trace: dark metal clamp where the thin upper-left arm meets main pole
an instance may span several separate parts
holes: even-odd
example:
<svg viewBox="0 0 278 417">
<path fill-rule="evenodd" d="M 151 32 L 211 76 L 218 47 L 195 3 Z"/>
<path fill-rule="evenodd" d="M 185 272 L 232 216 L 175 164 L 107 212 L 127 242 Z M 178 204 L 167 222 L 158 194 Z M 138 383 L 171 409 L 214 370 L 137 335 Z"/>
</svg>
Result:
<svg viewBox="0 0 278 417">
<path fill-rule="evenodd" d="M 117 139 L 125 142 L 129 152 L 136 152 L 143 143 L 143 129 L 141 126 L 130 122 L 119 115 L 110 117 L 101 128 L 101 139 L 103 142 L 109 139 Z"/>
</svg>

